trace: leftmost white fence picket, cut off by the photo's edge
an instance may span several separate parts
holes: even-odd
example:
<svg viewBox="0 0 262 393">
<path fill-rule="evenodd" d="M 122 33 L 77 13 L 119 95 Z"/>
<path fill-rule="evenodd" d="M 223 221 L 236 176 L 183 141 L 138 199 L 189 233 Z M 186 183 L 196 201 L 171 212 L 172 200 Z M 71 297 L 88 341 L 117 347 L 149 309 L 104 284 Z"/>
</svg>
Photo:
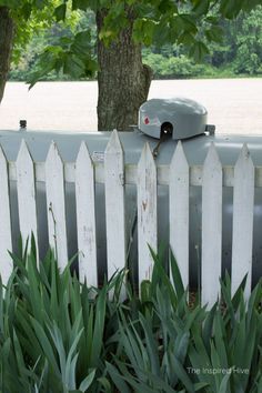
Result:
<svg viewBox="0 0 262 393">
<path fill-rule="evenodd" d="M 12 251 L 10 194 L 8 180 L 8 163 L 0 147 L 0 274 L 2 283 L 7 284 L 12 272 L 12 259 L 8 251 Z"/>
</svg>

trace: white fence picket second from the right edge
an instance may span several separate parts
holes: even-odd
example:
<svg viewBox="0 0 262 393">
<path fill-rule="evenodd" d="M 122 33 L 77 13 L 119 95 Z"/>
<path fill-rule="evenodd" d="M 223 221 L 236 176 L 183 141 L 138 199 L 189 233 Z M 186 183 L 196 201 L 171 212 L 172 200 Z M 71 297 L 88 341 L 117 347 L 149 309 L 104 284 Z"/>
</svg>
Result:
<svg viewBox="0 0 262 393">
<path fill-rule="evenodd" d="M 209 308 L 220 295 L 222 262 L 222 167 L 211 143 L 203 168 L 201 300 Z"/>
</svg>

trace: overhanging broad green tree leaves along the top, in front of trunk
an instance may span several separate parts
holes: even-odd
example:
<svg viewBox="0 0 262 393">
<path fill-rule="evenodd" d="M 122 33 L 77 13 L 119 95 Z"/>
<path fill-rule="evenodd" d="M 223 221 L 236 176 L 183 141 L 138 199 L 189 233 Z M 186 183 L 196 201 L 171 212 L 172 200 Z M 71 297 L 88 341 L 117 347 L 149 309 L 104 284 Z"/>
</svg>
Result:
<svg viewBox="0 0 262 393">
<path fill-rule="evenodd" d="M 40 2 L 44 3 L 43 0 Z M 72 11 L 91 10 L 95 13 L 107 10 L 99 40 L 110 46 L 130 24 L 129 9 L 133 18 L 132 39 L 135 44 L 161 48 L 175 43 L 183 48 L 183 53 L 199 62 L 209 53 L 210 46 L 221 43 L 224 34 L 221 18 L 235 19 L 241 11 L 250 12 L 259 3 L 260 0 L 72 0 L 58 1 L 54 17 L 58 22 L 64 23 Z M 87 27 L 70 38 L 61 37 L 54 46 L 46 48 L 39 58 L 38 72 L 30 77 L 30 82 L 33 84 L 51 69 L 61 70 L 75 79 L 93 77 L 97 64 L 91 46 L 92 33 L 92 27 Z"/>
</svg>

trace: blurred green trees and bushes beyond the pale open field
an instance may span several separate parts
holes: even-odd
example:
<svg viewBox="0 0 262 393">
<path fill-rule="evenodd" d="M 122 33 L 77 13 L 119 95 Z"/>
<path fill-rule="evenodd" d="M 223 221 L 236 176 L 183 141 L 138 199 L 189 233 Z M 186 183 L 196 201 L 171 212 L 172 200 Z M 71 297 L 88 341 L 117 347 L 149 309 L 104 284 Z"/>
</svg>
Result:
<svg viewBox="0 0 262 393">
<path fill-rule="evenodd" d="M 179 78 L 226 78 L 262 74 L 262 6 L 256 7 L 251 13 L 241 12 L 235 20 L 221 20 L 220 30 L 216 32 L 215 42 L 209 43 L 209 53 L 202 62 L 195 62 L 189 57 L 182 44 L 165 44 L 162 47 L 144 47 L 142 50 L 143 62 L 154 72 L 154 79 Z M 51 27 L 42 24 L 41 29 L 28 38 L 26 50 L 16 47 L 13 61 L 9 74 L 10 80 L 24 81 L 30 74 L 38 71 L 39 53 L 44 48 L 57 46 L 72 46 L 75 33 L 89 31 L 89 37 L 83 37 L 89 46 L 90 61 L 93 61 L 95 75 L 95 17 L 89 10 L 78 11 L 69 19 L 68 26 L 54 22 Z M 223 30 L 223 38 L 220 31 Z M 214 32 L 215 33 L 215 32 Z M 83 41 L 82 41 L 83 42 Z M 48 66 L 48 59 L 47 59 Z M 70 64 L 69 64 L 70 67 Z M 77 70 L 75 70 L 77 72 Z M 47 80 L 69 80 L 64 73 L 51 71 Z"/>
</svg>

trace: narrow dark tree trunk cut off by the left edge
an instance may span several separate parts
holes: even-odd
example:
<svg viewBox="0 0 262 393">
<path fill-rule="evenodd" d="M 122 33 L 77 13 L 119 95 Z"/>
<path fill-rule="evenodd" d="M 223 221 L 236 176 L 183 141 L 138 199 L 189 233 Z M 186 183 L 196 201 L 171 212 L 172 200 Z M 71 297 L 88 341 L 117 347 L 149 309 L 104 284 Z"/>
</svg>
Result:
<svg viewBox="0 0 262 393">
<path fill-rule="evenodd" d="M 10 68 L 13 41 L 13 21 L 7 7 L 0 7 L 0 103 Z"/>
</svg>

